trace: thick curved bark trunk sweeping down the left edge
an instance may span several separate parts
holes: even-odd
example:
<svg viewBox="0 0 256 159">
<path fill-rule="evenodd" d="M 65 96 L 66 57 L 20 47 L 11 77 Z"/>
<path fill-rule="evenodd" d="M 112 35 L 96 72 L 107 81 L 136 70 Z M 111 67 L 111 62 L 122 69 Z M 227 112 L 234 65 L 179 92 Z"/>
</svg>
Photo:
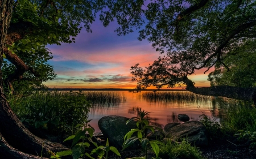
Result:
<svg viewBox="0 0 256 159">
<path fill-rule="evenodd" d="M 7 34 L 7 28 L 10 24 L 11 12 L 13 8 L 13 0 L 0 0 L 0 66 L 3 62 L 3 47 L 5 46 L 5 38 Z M 40 155 L 48 151 L 63 151 L 67 150 L 63 145 L 57 143 L 51 143 L 50 141 L 40 139 L 31 134 L 26 127 L 20 122 L 8 104 L 4 92 L 3 92 L 3 78 L 2 69 L 0 67 L 0 133 L 4 139 L 1 140 L 0 151 L 9 151 L 9 144 L 18 149 L 19 151 Z M 0 137 L 1 137 L 0 136 Z M 8 144 L 7 144 L 8 143 Z M 16 150 L 15 150 L 16 151 Z M 6 152 L 7 153 L 7 152 Z M 15 152 L 16 153 L 16 152 Z M 15 154 L 14 153 L 14 154 Z M 23 154 L 19 152 L 20 154 Z M 14 155 L 13 154 L 13 155 Z M 15 156 L 15 155 L 14 155 Z M 2 157 L 2 156 L 1 156 Z M 7 157 L 7 158 L 10 158 Z"/>
</svg>

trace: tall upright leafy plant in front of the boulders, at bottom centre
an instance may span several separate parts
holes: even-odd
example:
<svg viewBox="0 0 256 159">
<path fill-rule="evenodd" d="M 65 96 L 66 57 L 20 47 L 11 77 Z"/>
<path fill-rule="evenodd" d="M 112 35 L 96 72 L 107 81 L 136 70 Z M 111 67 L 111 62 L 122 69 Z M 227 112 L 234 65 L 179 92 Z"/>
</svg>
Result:
<svg viewBox="0 0 256 159">
<path fill-rule="evenodd" d="M 159 131 L 162 131 L 162 129 L 156 127 L 156 126 L 152 126 L 152 125 L 149 125 L 149 122 L 148 120 L 146 119 L 146 115 L 150 112 L 147 112 L 147 111 L 142 111 L 141 108 L 137 108 L 137 112 L 138 112 L 138 117 L 133 117 L 133 118 L 130 118 L 126 124 L 128 124 L 129 122 L 131 121 L 136 121 L 137 123 L 137 127 L 138 128 L 135 128 L 135 129 L 131 129 L 131 131 L 127 132 L 127 134 L 125 135 L 125 142 L 123 143 L 123 149 L 126 149 L 127 147 L 130 147 L 131 145 L 133 145 L 135 143 L 135 141 L 139 140 L 141 142 L 141 145 L 142 145 L 142 148 L 145 150 L 146 152 L 146 159 L 148 158 L 147 156 L 147 145 L 150 144 L 151 145 L 151 148 L 153 149 L 154 153 L 156 154 L 156 158 L 159 158 L 158 157 L 158 154 L 159 154 L 159 144 L 163 144 L 161 143 L 160 141 L 156 141 L 156 140 L 148 140 L 146 138 L 146 134 L 145 134 L 145 131 L 147 129 L 150 129 L 152 132 L 155 132 L 155 128 L 158 129 Z M 140 129 L 141 128 L 141 129 Z M 137 136 L 133 136 L 131 137 L 134 132 L 137 132 Z M 163 133 L 164 134 L 164 133 Z"/>
</svg>

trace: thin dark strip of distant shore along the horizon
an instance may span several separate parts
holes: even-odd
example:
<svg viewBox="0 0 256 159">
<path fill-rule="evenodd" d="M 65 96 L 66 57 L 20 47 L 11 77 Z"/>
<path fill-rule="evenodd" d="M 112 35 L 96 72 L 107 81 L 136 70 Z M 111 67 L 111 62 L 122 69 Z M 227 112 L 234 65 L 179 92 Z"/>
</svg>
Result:
<svg viewBox="0 0 256 159">
<path fill-rule="evenodd" d="M 131 91 L 125 88 L 49 88 L 49 91 Z M 185 89 L 144 89 L 142 91 L 187 91 Z"/>
</svg>

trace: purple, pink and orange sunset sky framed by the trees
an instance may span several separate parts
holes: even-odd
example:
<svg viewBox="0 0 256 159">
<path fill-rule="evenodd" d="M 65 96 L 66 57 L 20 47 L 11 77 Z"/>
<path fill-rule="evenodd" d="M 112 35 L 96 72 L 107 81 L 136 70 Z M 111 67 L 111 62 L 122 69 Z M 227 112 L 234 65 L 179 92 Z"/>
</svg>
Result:
<svg viewBox="0 0 256 159">
<path fill-rule="evenodd" d="M 50 88 L 135 88 L 130 67 L 137 63 L 141 67 L 148 66 L 160 54 L 147 40 L 138 40 L 138 31 L 118 36 L 114 32 L 117 27 L 117 23 L 112 22 L 105 28 L 96 19 L 91 25 L 92 33 L 82 29 L 75 43 L 48 45 L 53 54 L 48 63 L 57 78 L 44 84 Z M 196 87 L 209 87 L 210 71 L 204 74 L 204 70 L 198 70 L 188 78 Z"/>
</svg>

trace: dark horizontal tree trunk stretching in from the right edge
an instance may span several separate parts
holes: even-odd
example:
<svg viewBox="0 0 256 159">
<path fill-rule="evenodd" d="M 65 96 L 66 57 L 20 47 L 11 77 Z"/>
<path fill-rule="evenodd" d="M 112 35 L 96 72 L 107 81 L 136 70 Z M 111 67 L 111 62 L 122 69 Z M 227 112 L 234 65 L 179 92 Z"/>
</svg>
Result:
<svg viewBox="0 0 256 159">
<path fill-rule="evenodd" d="M 253 101 L 256 104 L 256 89 L 231 87 L 228 85 L 219 85 L 215 87 L 195 87 L 193 82 L 185 76 L 183 82 L 187 84 L 186 89 L 190 92 L 205 96 L 221 96 L 234 98 L 237 100 Z"/>
</svg>

